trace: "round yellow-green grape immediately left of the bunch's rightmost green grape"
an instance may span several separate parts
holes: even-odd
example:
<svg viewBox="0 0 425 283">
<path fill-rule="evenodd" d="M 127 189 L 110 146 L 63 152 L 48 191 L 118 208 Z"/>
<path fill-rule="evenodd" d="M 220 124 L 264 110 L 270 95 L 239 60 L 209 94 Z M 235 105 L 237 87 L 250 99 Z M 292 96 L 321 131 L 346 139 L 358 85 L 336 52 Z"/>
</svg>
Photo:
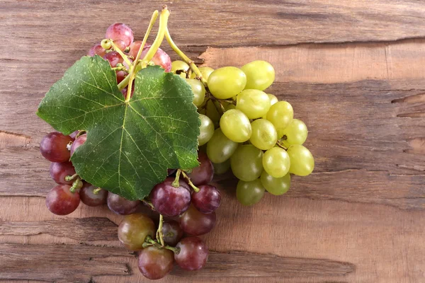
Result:
<svg viewBox="0 0 425 283">
<path fill-rule="evenodd" d="M 290 168 L 290 158 L 285 149 L 273 147 L 268 149 L 263 156 L 264 171 L 274 178 L 282 178 Z"/>
</svg>

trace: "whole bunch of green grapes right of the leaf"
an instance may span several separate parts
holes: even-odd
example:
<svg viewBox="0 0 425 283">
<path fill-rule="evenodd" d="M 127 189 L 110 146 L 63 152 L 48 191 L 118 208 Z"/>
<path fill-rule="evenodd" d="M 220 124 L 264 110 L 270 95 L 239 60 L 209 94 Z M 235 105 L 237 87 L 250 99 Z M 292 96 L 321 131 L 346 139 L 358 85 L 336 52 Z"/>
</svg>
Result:
<svg viewBox="0 0 425 283">
<path fill-rule="evenodd" d="M 283 195 L 290 188 L 290 174 L 312 173 L 314 158 L 302 146 L 307 126 L 294 119 L 288 101 L 264 92 L 275 80 L 270 63 L 258 60 L 240 69 L 199 70 L 205 86 L 188 64 L 175 61 L 171 69 L 192 87 L 193 103 L 200 113 L 199 146 L 216 174 L 232 169 L 239 179 L 239 202 L 256 204 L 266 191 Z"/>
</svg>

